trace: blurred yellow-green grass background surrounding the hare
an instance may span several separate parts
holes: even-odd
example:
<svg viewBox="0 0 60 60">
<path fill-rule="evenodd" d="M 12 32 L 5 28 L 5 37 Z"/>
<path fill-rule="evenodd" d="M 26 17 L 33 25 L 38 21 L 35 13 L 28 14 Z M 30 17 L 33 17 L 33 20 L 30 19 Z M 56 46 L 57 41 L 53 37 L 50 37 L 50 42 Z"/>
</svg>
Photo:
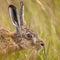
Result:
<svg viewBox="0 0 60 60">
<path fill-rule="evenodd" d="M 37 31 L 45 43 L 38 54 L 38 60 L 60 60 L 60 0 L 23 0 L 24 19 L 27 27 Z M 20 0 L 0 0 L 0 27 L 13 31 L 9 13 L 9 4 L 20 7 Z M 31 52 L 30 52 L 31 53 Z M 2 60 L 25 60 L 24 52 L 13 53 Z M 23 57 L 23 58 L 21 58 Z M 27 58 L 26 60 L 29 60 Z"/>
</svg>

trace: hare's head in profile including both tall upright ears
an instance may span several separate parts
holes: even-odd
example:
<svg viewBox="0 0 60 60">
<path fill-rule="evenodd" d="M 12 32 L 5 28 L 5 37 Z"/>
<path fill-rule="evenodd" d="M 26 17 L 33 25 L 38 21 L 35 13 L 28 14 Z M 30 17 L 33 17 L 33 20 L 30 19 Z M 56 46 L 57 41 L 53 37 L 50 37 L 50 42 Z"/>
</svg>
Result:
<svg viewBox="0 0 60 60">
<path fill-rule="evenodd" d="M 23 2 L 20 3 L 19 19 L 17 18 L 16 7 L 9 5 L 9 13 L 13 24 L 16 26 L 16 33 L 12 35 L 13 40 L 18 44 L 18 46 L 28 49 L 34 48 L 36 50 L 44 46 L 44 43 L 39 39 L 36 32 L 26 28 L 24 26 L 24 5 Z"/>
</svg>

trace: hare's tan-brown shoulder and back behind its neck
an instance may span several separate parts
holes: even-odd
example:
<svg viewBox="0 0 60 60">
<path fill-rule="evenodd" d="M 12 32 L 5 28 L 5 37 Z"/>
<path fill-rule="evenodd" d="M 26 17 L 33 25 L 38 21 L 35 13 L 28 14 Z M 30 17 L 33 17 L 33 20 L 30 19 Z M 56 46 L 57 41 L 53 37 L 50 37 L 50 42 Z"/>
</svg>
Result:
<svg viewBox="0 0 60 60">
<path fill-rule="evenodd" d="M 18 48 L 18 45 L 9 36 L 10 32 L 4 28 L 0 29 L 0 53 L 8 53 Z"/>
</svg>

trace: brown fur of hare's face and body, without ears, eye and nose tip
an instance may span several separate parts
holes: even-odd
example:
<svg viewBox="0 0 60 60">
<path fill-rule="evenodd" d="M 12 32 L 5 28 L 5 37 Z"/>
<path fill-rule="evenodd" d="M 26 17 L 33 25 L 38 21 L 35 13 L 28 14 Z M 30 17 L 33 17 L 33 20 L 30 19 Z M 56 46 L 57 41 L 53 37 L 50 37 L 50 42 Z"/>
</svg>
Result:
<svg viewBox="0 0 60 60">
<path fill-rule="evenodd" d="M 0 54 L 11 53 L 20 49 L 35 48 L 40 49 L 41 43 L 43 43 L 37 36 L 36 32 L 31 29 L 22 28 L 22 37 L 16 32 L 10 32 L 3 28 L 0 29 Z M 29 39 L 27 33 L 33 37 Z M 33 38 L 36 38 L 36 43 L 33 42 Z"/>
</svg>

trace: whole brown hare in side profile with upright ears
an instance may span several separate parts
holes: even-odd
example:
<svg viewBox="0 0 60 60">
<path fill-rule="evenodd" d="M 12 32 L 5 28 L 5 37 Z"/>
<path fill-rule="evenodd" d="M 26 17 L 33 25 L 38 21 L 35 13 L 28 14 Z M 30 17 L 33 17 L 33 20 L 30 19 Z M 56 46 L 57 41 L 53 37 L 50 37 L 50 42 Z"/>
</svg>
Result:
<svg viewBox="0 0 60 60">
<path fill-rule="evenodd" d="M 39 50 L 44 43 L 39 39 L 34 30 L 24 25 L 24 4 L 20 2 L 19 19 L 14 5 L 9 5 L 9 14 L 16 31 L 10 32 L 0 28 L 0 54 L 7 54 L 17 50 L 30 49 Z"/>
</svg>

